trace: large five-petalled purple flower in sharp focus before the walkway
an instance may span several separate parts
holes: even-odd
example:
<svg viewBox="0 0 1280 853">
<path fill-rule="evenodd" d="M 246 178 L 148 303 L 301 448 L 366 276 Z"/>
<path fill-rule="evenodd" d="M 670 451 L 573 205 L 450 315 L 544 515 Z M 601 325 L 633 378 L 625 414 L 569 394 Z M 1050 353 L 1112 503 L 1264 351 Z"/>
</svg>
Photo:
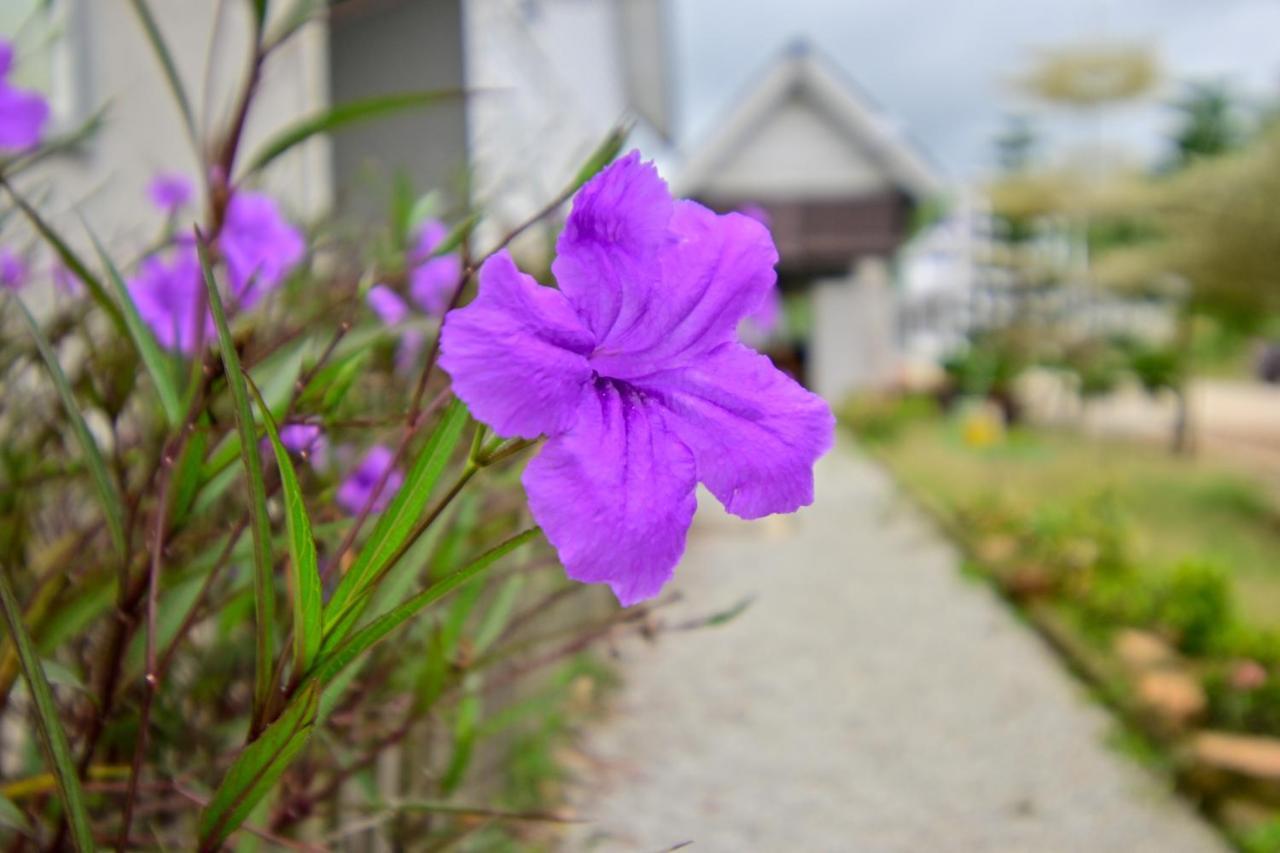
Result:
<svg viewBox="0 0 1280 853">
<path fill-rule="evenodd" d="M 622 605 L 658 594 L 698 482 L 745 519 L 813 501 L 831 410 L 735 339 L 774 263 L 759 223 L 673 201 L 632 152 L 575 197 L 559 289 L 500 252 L 449 313 L 440 364 L 458 397 L 499 435 L 549 435 L 524 484 L 571 578 Z"/>
</svg>

